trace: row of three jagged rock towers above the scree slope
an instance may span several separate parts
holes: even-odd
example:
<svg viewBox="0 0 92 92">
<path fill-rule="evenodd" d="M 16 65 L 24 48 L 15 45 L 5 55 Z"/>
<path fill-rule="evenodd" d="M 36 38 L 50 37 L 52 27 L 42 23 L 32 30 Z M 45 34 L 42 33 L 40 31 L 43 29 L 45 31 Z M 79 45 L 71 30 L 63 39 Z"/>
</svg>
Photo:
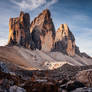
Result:
<svg viewBox="0 0 92 92">
<path fill-rule="evenodd" d="M 14 24 L 10 19 L 8 45 L 12 43 L 12 38 L 12 41 L 15 41 L 12 45 L 20 45 L 33 50 L 61 51 L 69 56 L 74 56 L 75 53 L 83 55 L 67 24 L 61 24 L 58 30 L 55 30 L 48 9 L 43 10 L 31 23 L 29 22 L 30 15 L 22 11 L 19 17 L 12 18 L 12 20 L 19 21 L 19 23 Z"/>
</svg>

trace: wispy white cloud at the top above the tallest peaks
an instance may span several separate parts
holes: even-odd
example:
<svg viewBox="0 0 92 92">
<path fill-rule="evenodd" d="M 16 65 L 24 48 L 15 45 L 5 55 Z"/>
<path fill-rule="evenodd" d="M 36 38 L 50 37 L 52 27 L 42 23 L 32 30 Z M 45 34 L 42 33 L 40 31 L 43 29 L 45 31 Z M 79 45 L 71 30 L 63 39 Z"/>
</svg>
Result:
<svg viewBox="0 0 92 92">
<path fill-rule="evenodd" d="M 40 6 L 50 7 L 55 4 L 58 0 L 10 0 L 12 3 L 17 5 L 20 9 L 23 10 L 34 10 Z"/>
</svg>

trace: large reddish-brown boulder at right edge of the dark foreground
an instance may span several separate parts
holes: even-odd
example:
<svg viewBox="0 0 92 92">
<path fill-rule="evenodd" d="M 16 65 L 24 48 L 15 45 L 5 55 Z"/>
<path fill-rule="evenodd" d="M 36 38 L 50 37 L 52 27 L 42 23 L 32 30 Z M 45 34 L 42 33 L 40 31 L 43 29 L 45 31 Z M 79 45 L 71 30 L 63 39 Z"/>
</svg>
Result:
<svg viewBox="0 0 92 92">
<path fill-rule="evenodd" d="M 80 71 L 76 75 L 76 80 L 83 83 L 86 87 L 92 87 L 92 69 Z"/>
</svg>

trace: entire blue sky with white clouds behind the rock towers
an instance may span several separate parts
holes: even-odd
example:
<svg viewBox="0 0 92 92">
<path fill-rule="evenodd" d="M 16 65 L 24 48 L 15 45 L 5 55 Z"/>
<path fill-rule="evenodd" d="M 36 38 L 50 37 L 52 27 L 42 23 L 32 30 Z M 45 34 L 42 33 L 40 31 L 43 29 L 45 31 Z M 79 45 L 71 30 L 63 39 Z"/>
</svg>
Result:
<svg viewBox="0 0 92 92">
<path fill-rule="evenodd" d="M 22 10 L 32 21 L 46 8 L 55 29 L 67 24 L 80 51 L 92 56 L 92 0 L 0 0 L 0 46 L 8 42 L 10 17 L 19 16 Z"/>
</svg>

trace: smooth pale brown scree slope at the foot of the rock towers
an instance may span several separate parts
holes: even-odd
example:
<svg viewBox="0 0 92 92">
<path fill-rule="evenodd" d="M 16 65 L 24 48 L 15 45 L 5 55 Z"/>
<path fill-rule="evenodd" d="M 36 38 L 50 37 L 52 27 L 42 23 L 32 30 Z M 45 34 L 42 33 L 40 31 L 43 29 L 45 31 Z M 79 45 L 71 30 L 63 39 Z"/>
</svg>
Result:
<svg viewBox="0 0 92 92">
<path fill-rule="evenodd" d="M 66 63 L 74 66 L 92 65 L 92 60 L 86 57 L 70 57 L 60 52 L 32 51 L 17 46 L 0 47 L 0 60 L 12 62 L 28 70 L 52 70 Z"/>
</svg>

